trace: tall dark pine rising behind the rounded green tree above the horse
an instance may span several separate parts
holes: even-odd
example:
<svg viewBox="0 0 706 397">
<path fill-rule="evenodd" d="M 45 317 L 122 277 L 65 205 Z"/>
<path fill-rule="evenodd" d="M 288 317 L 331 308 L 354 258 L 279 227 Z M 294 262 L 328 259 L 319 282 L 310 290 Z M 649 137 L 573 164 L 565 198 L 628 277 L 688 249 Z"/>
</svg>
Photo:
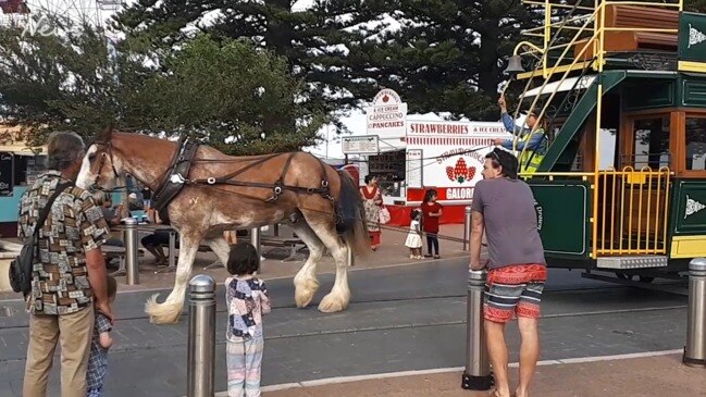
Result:
<svg viewBox="0 0 706 397">
<path fill-rule="evenodd" d="M 349 54 L 368 34 L 356 26 L 379 18 L 391 3 L 317 0 L 308 10 L 293 11 L 295 2 L 143 0 L 121 12 L 114 27 L 132 48 L 146 52 L 170 51 L 194 32 L 250 40 L 284 57 L 292 76 L 305 82 L 298 100 L 312 113 L 333 115 L 355 106 L 360 95 L 374 95 L 370 82 L 358 79 L 364 65 L 351 63 L 356 58 Z"/>
</svg>

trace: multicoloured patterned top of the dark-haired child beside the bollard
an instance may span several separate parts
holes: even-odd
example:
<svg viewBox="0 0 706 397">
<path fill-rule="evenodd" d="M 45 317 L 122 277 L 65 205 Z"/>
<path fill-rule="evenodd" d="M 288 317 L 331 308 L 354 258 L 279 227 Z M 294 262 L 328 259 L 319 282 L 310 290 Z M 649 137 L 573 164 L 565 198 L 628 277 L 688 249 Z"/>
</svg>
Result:
<svg viewBox="0 0 706 397">
<path fill-rule="evenodd" d="M 257 277 L 225 280 L 225 303 L 228 308 L 230 342 L 262 337 L 262 314 L 270 312 L 270 294 Z"/>
</svg>

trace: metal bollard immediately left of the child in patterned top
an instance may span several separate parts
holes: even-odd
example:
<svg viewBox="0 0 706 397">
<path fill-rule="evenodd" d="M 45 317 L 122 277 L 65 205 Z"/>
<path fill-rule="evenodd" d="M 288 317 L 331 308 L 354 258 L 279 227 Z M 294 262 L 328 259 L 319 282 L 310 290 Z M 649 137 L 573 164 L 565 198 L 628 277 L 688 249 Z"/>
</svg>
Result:
<svg viewBox="0 0 706 397">
<path fill-rule="evenodd" d="M 199 274 L 189 282 L 187 397 L 213 397 L 215 368 L 215 281 Z"/>
</svg>

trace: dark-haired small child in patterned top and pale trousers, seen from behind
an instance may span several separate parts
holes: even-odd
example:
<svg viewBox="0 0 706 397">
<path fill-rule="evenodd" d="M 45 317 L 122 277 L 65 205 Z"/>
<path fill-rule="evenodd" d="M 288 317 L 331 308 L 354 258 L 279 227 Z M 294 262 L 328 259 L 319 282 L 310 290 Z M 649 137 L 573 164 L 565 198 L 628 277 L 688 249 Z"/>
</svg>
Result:
<svg viewBox="0 0 706 397">
<path fill-rule="evenodd" d="M 226 367 L 228 397 L 260 397 L 262 367 L 262 317 L 270 312 L 270 296 L 264 282 L 253 276 L 260 256 L 249 243 L 231 248 L 225 280 L 228 310 Z"/>
</svg>

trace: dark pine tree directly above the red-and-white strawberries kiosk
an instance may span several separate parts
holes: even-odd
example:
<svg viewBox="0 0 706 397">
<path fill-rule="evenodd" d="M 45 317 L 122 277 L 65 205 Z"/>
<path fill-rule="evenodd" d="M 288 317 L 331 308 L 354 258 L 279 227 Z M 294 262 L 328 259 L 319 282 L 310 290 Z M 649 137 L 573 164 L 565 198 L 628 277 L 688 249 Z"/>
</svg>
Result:
<svg viewBox="0 0 706 397">
<path fill-rule="evenodd" d="M 497 120 L 497 87 L 520 29 L 541 15 L 520 1 L 400 0 L 401 29 L 369 44 L 383 63 L 381 86 L 394 88 L 410 112 L 450 112 Z"/>
</svg>

